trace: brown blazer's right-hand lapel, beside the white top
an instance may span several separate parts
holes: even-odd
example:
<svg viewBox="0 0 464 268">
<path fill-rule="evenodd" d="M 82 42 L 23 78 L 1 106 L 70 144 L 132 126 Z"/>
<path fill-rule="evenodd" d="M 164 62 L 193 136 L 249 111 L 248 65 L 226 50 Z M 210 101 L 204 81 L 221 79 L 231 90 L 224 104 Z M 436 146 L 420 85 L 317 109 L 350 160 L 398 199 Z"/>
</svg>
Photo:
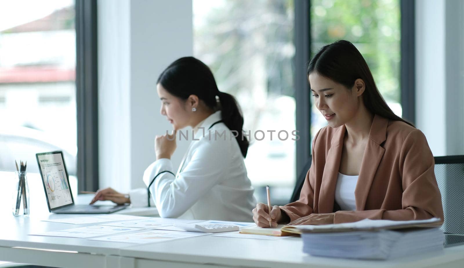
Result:
<svg viewBox="0 0 464 268">
<path fill-rule="evenodd" d="M 379 167 L 385 149 L 381 144 L 387 139 L 388 119 L 380 115 L 374 115 L 366 149 L 361 162 L 361 170 L 358 176 L 358 182 L 354 190 L 356 199 L 356 210 L 363 211 L 366 206 L 367 197 L 374 180 L 375 172 Z"/>
</svg>

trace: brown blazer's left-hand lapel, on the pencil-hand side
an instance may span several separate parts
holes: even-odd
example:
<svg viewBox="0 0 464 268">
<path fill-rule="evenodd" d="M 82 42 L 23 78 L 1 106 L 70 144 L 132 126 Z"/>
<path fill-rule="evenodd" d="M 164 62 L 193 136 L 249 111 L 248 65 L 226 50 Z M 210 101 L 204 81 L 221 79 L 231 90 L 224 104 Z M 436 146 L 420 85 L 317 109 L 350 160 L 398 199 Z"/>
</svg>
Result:
<svg viewBox="0 0 464 268">
<path fill-rule="evenodd" d="M 315 204 L 316 213 L 332 213 L 335 202 L 335 186 L 337 185 L 338 170 L 342 159 L 343 138 L 345 137 L 345 126 L 340 127 L 332 138 L 332 144 L 327 152 L 327 157 L 322 173 L 321 190 L 319 202 Z"/>
</svg>

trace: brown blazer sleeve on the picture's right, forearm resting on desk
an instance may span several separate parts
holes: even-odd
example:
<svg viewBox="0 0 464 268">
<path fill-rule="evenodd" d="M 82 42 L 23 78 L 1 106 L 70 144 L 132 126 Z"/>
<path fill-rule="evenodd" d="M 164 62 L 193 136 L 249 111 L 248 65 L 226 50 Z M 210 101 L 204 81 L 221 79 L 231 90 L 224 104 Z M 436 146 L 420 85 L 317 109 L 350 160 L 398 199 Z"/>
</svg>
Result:
<svg viewBox="0 0 464 268">
<path fill-rule="evenodd" d="M 337 211 L 334 223 L 356 222 L 366 218 L 404 221 L 432 217 L 440 218 L 443 223 L 443 206 L 434 165 L 433 155 L 425 135 L 420 130 L 414 129 L 407 135 L 400 151 L 402 209 Z"/>
</svg>

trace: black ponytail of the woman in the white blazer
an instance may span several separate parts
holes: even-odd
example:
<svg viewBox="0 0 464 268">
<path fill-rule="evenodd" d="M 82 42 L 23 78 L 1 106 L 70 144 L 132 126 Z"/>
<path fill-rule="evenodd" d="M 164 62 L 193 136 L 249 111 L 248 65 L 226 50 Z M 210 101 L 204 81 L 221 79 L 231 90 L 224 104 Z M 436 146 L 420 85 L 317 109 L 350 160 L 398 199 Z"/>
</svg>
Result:
<svg viewBox="0 0 464 268">
<path fill-rule="evenodd" d="M 224 121 L 227 128 L 237 131 L 238 136 L 235 139 L 237 139 L 238 147 L 240 147 L 240 151 L 245 158 L 250 142 L 243 133 L 243 116 L 238 107 L 237 100 L 226 92 L 219 92 L 218 96 L 221 103 L 222 121 Z"/>
</svg>

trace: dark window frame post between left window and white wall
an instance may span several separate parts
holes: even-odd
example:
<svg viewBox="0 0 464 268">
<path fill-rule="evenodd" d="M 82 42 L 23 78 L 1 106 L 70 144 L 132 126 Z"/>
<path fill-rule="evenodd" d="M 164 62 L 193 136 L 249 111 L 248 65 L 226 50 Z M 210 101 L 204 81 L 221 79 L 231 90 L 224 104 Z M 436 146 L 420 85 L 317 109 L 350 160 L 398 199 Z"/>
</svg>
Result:
<svg viewBox="0 0 464 268">
<path fill-rule="evenodd" d="M 98 189 L 97 1 L 75 0 L 77 189 Z"/>
</svg>

